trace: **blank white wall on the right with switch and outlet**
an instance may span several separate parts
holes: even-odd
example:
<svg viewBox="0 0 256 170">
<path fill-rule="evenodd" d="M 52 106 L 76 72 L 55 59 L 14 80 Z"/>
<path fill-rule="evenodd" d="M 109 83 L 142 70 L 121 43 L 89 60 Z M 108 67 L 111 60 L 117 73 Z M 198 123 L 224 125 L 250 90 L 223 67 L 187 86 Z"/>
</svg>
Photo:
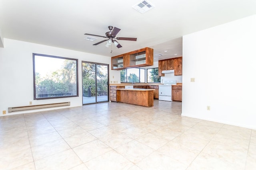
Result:
<svg viewBox="0 0 256 170">
<path fill-rule="evenodd" d="M 182 115 L 256 129 L 255 30 L 256 15 L 183 36 Z"/>
</svg>

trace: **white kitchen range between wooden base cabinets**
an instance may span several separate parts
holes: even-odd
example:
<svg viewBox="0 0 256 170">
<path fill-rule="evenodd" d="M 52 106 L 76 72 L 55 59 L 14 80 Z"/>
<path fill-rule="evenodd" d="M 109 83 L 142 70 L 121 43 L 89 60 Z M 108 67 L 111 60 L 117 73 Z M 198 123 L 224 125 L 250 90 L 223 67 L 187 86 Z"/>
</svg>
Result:
<svg viewBox="0 0 256 170">
<path fill-rule="evenodd" d="M 176 85 L 176 80 L 164 80 L 164 84 L 159 85 L 159 99 L 172 102 L 172 85 Z"/>
</svg>

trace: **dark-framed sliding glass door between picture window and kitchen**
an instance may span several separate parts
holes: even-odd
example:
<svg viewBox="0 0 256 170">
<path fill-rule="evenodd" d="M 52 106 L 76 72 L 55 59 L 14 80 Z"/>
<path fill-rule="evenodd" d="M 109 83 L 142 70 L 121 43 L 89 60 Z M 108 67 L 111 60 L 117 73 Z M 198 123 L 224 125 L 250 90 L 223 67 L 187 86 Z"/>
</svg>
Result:
<svg viewBox="0 0 256 170">
<path fill-rule="evenodd" d="M 108 64 L 82 61 L 83 104 L 109 101 Z"/>
</svg>

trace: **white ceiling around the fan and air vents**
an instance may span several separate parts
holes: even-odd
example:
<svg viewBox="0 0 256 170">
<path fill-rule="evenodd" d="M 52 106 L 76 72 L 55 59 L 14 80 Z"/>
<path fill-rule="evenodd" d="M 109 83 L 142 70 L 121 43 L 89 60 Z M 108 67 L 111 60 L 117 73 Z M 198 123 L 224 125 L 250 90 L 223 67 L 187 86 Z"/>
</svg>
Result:
<svg viewBox="0 0 256 170">
<path fill-rule="evenodd" d="M 154 61 L 182 56 L 182 35 L 256 14 L 256 0 L 149 0 L 155 7 L 144 14 L 132 6 L 141 0 L 0 0 L 2 38 L 94 53 L 108 57 L 151 47 Z M 84 33 L 137 37 L 105 47 Z M 94 36 L 92 36 L 94 37 Z M 221 40 L 220 40 L 221 41 Z M 167 52 L 164 52 L 167 50 Z M 177 54 L 177 55 L 174 55 Z"/>
</svg>

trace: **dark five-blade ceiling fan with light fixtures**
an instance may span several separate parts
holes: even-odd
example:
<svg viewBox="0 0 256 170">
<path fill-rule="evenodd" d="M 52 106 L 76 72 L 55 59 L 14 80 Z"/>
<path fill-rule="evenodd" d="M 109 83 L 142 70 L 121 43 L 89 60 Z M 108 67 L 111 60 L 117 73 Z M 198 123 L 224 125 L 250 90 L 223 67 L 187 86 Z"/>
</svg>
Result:
<svg viewBox="0 0 256 170">
<path fill-rule="evenodd" d="M 113 29 L 114 28 L 114 29 Z M 118 39 L 118 40 L 127 40 L 127 41 L 137 41 L 137 38 L 128 38 L 128 37 L 116 37 L 116 34 L 121 30 L 117 27 L 113 27 L 113 26 L 108 26 L 108 29 L 110 31 L 106 32 L 105 36 L 101 36 L 101 35 L 94 35 L 94 34 L 88 34 L 88 33 L 85 33 L 84 35 L 92 35 L 92 36 L 97 36 L 97 37 L 103 37 L 103 38 L 108 38 L 108 39 L 105 39 L 103 41 L 100 41 L 98 43 L 95 43 L 93 45 L 98 45 L 100 43 L 103 43 L 105 41 L 107 41 L 106 43 L 106 47 L 109 47 L 109 45 L 112 45 L 112 43 L 114 43 L 114 45 L 117 47 L 117 48 L 121 48 L 122 45 L 120 45 L 116 40 L 114 39 Z M 115 38 L 116 37 L 116 38 Z"/>
</svg>

